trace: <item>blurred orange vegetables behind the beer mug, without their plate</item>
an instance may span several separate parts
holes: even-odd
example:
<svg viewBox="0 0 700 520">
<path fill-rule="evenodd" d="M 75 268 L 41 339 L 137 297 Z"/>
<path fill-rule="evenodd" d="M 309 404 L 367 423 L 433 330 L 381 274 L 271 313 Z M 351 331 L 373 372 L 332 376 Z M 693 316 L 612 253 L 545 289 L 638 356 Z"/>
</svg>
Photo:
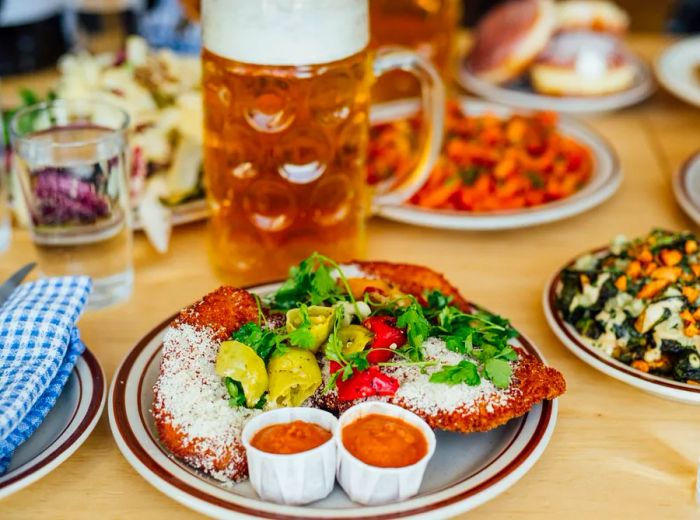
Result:
<svg viewBox="0 0 700 520">
<path fill-rule="evenodd" d="M 403 176 L 415 164 L 417 121 L 372 128 L 369 181 Z M 590 180 L 590 151 L 557 130 L 557 116 L 469 116 L 447 107 L 438 163 L 410 203 L 471 212 L 514 210 L 569 197 Z"/>
</svg>

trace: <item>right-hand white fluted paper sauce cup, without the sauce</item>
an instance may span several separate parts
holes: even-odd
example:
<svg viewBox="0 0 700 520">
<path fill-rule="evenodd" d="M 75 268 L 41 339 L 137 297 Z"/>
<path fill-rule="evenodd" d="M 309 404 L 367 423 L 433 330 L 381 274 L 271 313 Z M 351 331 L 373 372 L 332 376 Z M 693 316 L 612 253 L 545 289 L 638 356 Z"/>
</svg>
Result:
<svg viewBox="0 0 700 520">
<path fill-rule="evenodd" d="M 343 444 L 343 427 L 370 414 L 397 417 L 415 426 L 425 435 L 428 452 L 415 464 L 403 468 L 379 468 L 357 459 Z M 349 408 L 340 417 L 335 440 L 338 445 L 338 482 L 353 502 L 366 505 L 397 502 L 418 493 L 425 468 L 435 453 L 435 434 L 423 419 L 399 406 L 383 402 L 360 403 Z"/>
</svg>

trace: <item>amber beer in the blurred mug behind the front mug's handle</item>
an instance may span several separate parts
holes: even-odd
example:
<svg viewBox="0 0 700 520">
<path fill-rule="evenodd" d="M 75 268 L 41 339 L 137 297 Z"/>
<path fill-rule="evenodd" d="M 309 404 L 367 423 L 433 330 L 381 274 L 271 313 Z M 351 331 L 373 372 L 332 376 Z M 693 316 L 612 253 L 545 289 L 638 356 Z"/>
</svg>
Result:
<svg viewBox="0 0 700 520">
<path fill-rule="evenodd" d="M 449 82 L 454 40 L 461 15 L 460 0 L 370 0 L 372 45 L 400 45 L 431 60 Z M 375 87 L 375 99 L 418 95 L 415 77 L 402 71 L 388 74 Z"/>
</svg>

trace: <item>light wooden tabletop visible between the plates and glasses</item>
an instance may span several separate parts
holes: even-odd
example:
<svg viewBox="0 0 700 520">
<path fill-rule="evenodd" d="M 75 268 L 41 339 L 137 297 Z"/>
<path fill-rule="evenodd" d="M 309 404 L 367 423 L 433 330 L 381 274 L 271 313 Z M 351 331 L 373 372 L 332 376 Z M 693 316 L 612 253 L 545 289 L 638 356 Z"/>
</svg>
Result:
<svg viewBox="0 0 700 520">
<path fill-rule="evenodd" d="M 649 60 L 668 42 L 632 38 Z M 468 298 L 510 317 L 566 376 L 568 392 L 541 460 L 470 518 L 700 517 L 694 502 L 700 409 L 649 396 L 583 364 L 550 331 L 540 303 L 558 267 L 614 234 L 694 227 L 674 201 L 671 175 L 700 148 L 700 110 L 660 91 L 639 107 L 588 122 L 614 144 L 625 173 L 620 191 L 600 208 L 565 222 L 498 233 L 433 231 L 379 219 L 369 226 L 370 257 L 444 272 Z M 178 228 L 165 256 L 137 235 L 133 297 L 85 315 L 80 324 L 108 379 L 151 327 L 218 285 L 204 234 L 200 224 Z M 0 255 L 0 279 L 33 257 L 27 233 L 16 231 L 11 249 Z M 129 466 L 106 415 L 68 461 L 4 500 L 0 517 L 195 517 Z"/>
</svg>

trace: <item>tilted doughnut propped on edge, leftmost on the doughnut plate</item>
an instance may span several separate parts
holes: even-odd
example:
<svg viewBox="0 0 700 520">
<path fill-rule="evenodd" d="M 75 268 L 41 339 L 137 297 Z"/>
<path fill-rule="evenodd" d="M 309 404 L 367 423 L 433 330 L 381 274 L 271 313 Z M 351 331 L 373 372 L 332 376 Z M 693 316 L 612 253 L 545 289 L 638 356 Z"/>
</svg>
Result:
<svg viewBox="0 0 700 520">
<path fill-rule="evenodd" d="M 486 81 L 508 83 L 527 70 L 555 26 L 552 0 L 510 0 L 479 22 L 467 65 Z"/>
</svg>

